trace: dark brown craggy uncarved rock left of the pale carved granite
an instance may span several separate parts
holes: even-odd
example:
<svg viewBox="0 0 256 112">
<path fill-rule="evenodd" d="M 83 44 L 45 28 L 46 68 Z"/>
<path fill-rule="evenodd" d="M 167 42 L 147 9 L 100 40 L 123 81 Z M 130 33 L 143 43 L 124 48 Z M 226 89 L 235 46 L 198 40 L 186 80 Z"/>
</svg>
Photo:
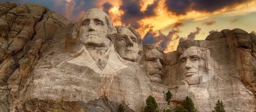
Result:
<svg viewBox="0 0 256 112">
<path fill-rule="evenodd" d="M 9 90 L 25 88 L 32 65 L 50 45 L 55 31 L 69 21 L 41 5 L 3 2 L 0 6 L 0 111 L 9 111 Z M 17 86 L 8 87 L 8 83 Z"/>
</svg>

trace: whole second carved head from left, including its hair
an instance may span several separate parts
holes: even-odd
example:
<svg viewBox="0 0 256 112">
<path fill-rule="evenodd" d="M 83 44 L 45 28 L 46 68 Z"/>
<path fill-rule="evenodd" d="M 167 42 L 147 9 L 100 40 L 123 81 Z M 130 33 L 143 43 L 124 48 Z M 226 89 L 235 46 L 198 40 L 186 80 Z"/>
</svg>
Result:
<svg viewBox="0 0 256 112">
<path fill-rule="evenodd" d="M 142 50 L 141 37 L 131 26 L 116 26 L 115 50 L 124 60 L 137 62 Z"/>
</svg>

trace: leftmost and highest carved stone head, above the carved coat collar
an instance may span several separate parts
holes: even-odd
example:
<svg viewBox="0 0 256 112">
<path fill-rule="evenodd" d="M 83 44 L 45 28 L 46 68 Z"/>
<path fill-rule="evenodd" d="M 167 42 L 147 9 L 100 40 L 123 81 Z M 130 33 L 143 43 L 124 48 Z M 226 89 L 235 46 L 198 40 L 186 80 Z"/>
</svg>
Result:
<svg viewBox="0 0 256 112">
<path fill-rule="evenodd" d="M 80 41 L 86 46 L 108 47 L 110 39 L 107 37 L 107 14 L 100 10 L 87 11 L 81 20 Z"/>
</svg>

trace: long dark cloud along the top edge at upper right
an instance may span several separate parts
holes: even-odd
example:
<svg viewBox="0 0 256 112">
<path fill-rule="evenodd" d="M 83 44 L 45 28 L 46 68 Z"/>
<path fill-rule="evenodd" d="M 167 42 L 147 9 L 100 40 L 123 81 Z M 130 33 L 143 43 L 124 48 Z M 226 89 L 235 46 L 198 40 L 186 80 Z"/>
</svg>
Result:
<svg viewBox="0 0 256 112">
<path fill-rule="evenodd" d="M 237 4 L 245 3 L 249 0 L 166 0 L 165 6 L 176 14 L 186 14 L 189 10 L 214 12 L 224 7 L 232 7 Z"/>
</svg>

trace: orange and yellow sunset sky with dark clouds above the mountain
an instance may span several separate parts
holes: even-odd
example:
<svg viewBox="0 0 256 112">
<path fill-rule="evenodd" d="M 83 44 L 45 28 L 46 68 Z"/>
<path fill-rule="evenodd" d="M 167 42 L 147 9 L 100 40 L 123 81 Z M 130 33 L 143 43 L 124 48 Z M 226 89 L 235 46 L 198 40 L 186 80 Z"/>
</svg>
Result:
<svg viewBox="0 0 256 112">
<path fill-rule="evenodd" d="M 0 0 L 0 2 L 4 2 Z M 178 42 L 204 40 L 223 29 L 256 32 L 256 1 L 253 0 L 10 0 L 17 4 L 41 4 L 62 14 L 72 23 L 98 8 L 114 25 L 131 25 L 143 44 L 155 44 L 165 52 L 174 51 Z"/>
</svg>

